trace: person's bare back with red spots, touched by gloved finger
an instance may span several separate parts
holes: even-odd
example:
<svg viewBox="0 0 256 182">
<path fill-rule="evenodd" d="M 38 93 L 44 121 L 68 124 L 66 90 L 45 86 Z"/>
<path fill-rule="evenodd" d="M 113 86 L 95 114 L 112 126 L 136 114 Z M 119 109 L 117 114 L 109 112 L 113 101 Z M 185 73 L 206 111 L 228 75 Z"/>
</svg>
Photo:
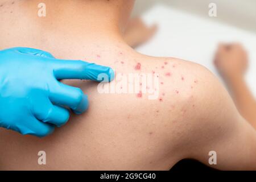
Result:
<svg viewBox="0 0 256 182">
<path fill-rule="evenodd" d="M 103 5 L 109 2 L 86 1 L 79 2 L 80 6 L 63 3 L 59 6 L 69 11 L 54 14 L 51 10 L 45 19 L 31 16 L 38 1 L 27 3 L 10 5 L 13 19 L 1 20 L 5 25 L 0 36 L 1 49 L 14 45 L 33 47 L 49 51 L 60 59 L 107 65 L 115 69 L 116 87 L 114 92 L 102 93 L 94 82 L 64 81 L 88 94 L 88 111 L 72 115 L 67 125 L 46 138 L 21 136 L 0 129 L 0 148 L 5 148 L 0 151 L 1 169 L 170 169 L 180 159 L 193 156 L 188 148 L 209 142 L 201 136 L 209 134 L 210 139 L 224 136 L 217 128 L 226 128 L 229 123 L 211 122 L 212 116 L 221 116 L 221 113 L 210 110 L 217 101 L 207 103 L 209 100 L 205 100 L 217 91 L 210 87 L 216 84 L 214 77 L 205 68 L 188 61 L 135 52 L 123 42 L 116 24 L 109 23 L 109 17 L 93 14 L 94 3 L 102 3 L 100 8 L 97 4 L 97 10 L 107 11 Z M 46 3 L 51 6 L 54 2 Z M 110 3 L 125 5 L 126 2 Z M 118 14 L 119 9 L 114 7 L 108 6 Z M 25 10 L 30 11 L 24 13 Z M 20 13 L 23 16 L 19 16 Z M 77 14 L 79 17 L 74 18 Z M 115 23 L 117 14 L 109 15 L 113 19 L 110 22 Z M 10 14 L 3 17 L 7 15 Z M 17 31 L 21 26 L 18 22 L 23 22 L 20 31 Z M 118 93 L 125 85 L 118 85 L 117 76 L 125 78 L 129 74 L 155 75 L 158 84 L 147 85 L 146 93 L 141 90 Z M 139 82 L 139 86 L 142 85 L 144 82 Z M 126 86 L 129 87 L 129 81 Z M 157 97 L 150 99 L 152 94 L 148 90 L 157 91 Z M 224 92 L 220 98 L 226 96 Z M 233 106 L 230 110 L 234 110 Z M 220 118 L 222 120 L 225 118 Z M 206 156 L 207 150 L 205 148 Z M 47 165 L 38 165 L 39 151 L 46 152 Z"/>
</svg>

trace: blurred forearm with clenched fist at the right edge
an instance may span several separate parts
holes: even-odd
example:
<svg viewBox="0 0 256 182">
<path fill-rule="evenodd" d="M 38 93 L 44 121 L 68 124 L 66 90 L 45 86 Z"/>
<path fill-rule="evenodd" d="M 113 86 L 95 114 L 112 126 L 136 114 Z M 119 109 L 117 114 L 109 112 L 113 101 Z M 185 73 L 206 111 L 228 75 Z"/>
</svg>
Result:
<svg viewBox="0 0 256 182">
<path fill-rule="evenodd" d="M 241 44 L 220 44 L 214 63 L 228 85 L 237 109 L 256 128 L 256 101 L 244 78 L 248 63 L 245 49 Z"/>
</svg>

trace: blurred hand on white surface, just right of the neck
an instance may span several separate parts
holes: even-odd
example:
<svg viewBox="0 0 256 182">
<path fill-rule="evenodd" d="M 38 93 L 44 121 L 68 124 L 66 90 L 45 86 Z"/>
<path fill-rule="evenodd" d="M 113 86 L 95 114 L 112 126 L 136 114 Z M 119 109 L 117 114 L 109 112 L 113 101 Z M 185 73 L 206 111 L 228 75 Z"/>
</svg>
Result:
<svg viewBox="0 0 256 182">
<path fill-rule="evenodd" d="M 156 30 L 156 24 L 147 27 L 141 18 L 133 18 L 127 24 L 123 38 L 129 46 L 135 48 L 152 38 L 152 36 L 155 35 Z"/>
</svg>

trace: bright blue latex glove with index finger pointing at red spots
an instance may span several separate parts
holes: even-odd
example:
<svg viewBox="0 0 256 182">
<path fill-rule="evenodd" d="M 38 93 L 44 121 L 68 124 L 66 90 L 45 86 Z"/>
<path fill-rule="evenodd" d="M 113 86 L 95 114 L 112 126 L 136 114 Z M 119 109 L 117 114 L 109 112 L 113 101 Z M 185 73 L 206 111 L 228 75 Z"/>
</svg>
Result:
<svg viewBox="0 0 256 182">
<path fill-rule="evenodd" d="M 59 60 L 51 53 L 32 48 L 0 51 L 0 127 L 38 137 L 64 125 L 69 110 L 76 114 L 88 108 L 82 90 L 61 79 L 97 80 L 100 73 L 113 80 L 114 72 L 80 60 Z"/>
</svg>

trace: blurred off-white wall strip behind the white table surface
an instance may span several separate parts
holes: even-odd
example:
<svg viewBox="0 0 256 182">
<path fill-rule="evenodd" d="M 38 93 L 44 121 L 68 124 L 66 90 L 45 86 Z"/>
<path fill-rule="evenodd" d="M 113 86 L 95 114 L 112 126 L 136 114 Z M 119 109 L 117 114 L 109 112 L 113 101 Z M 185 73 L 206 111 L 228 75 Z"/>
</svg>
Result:
<svg viewBox="0 0 256 182">
<path fill-rule="evenodd" d="M 209 18 L 208 5 L 212 2 L 217 4 L 217 18 L 214 20 L 256 32 L 256 0 L 137 0 L 134 15 L 161 3 Z"/>
</svg>

